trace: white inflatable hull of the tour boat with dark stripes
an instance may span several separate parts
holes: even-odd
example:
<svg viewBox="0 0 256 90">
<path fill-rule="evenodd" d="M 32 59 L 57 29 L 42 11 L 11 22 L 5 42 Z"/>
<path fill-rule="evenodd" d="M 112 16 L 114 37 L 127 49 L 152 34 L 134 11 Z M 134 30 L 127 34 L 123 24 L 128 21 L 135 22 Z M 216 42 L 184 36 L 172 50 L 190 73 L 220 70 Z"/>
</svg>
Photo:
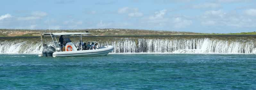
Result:
<svg viewBox="0 0 256 90">
<path fill-rule="evenodd" d="M 93 50 L 80 50 L 80 51 L 63 51 L 63 52 L 54 52 L 53 57 L 68 57 L 68 56 L 106 56 L 114 49 L 113 46 L 104 46 L 101 49 Z M 42 56 L 38 52 L 38 56 Z"/>
</svg>

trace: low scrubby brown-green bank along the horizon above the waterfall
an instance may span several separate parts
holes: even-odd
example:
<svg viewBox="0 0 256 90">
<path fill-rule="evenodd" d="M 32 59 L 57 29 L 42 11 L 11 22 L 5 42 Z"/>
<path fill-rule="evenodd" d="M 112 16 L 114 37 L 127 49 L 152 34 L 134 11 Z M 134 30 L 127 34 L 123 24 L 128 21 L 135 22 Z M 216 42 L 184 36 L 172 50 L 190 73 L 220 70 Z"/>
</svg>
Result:
<svg viewBox="0 0 256 90">
<path fill-rule="evenodd" d="M 139 29 L 77 29 L 77 30 L 51 30 L 51 33 L 72 33 L 88 31 L 92 36 L 135 36 L 135 35 L 256 35 L 256 32 L 230 33 L 230 34 L 208 34 L 177 31 L 154 31 Z M 48 30 L 27 30 L 27 29 L 0 29 L 0 37 L 8 36 L 40 36 L 41 33 L 48 33 Z"/>
</svg>

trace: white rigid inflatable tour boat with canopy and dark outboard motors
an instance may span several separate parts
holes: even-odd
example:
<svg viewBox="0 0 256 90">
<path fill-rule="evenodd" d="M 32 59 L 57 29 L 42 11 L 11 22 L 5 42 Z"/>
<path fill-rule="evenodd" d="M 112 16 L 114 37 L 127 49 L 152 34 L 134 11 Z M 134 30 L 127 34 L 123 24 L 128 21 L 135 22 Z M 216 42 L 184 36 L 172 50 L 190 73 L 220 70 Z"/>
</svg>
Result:
<svg viewBox="0 0 256 90">
<path fill-rule="evenodd" d="M 90 34 L 90 33 L 43 33 L 41 34 L 41 41 L 43 43 L 44 49 L 42 51 L 38 51 L 38 56 L 46 56 L 46 57 L 68 57 L 68 56 L 106 56 L 108 53 L 113 51 L 113 46 L 103 46 L 98 49 L 77 49 L 77 46 L 70 41 L 69 38 L 66 38 L 66 43 L 64 45 L 60 45 L 57 43 L 56 36 L 58 35 L 81 35 L 82 42 L 82 34 Z M 54 45 L 47 46 L 43 42 L 44 36 L 51 36 Z M 55 40 L 54 40 L 55 38 Z M 61 48 L 63 46 L 64 49 Z"/>
</svg>

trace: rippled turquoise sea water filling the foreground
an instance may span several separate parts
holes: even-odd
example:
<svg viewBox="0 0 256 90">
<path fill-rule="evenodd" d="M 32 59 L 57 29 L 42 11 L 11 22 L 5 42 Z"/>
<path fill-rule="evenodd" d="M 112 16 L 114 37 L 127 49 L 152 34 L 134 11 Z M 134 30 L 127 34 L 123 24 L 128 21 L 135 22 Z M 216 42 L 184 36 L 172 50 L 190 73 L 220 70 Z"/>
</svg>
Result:
<svg viewBox="0 0 256 90">
<path fill-rule="evenodd" d="M 0 89 L 256 89 L 256 55 L 0 55 Z"/>
</svg>

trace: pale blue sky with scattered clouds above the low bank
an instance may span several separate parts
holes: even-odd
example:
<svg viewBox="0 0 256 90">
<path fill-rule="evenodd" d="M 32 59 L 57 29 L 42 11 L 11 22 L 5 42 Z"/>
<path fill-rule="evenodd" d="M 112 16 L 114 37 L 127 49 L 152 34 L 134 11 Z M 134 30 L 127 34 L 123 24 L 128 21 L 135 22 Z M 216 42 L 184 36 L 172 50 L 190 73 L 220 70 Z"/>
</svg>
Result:
<svg viewBox="0 0 256 90">
<path fill-rule="evenodd" d="M 255 0 L 3 0 L 0 28 L 256 31 Z"/>
</svg>

